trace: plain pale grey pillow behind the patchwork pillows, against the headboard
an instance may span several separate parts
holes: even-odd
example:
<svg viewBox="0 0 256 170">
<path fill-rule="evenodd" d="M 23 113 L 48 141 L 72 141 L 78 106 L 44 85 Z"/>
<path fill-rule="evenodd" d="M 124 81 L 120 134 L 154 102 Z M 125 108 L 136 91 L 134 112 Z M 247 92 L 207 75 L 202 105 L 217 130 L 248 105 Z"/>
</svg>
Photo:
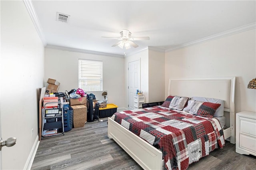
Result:
<svg viewBox="0 0 256 170">
<path fill-rule="evenodd" d="M 206 102 L 211 102 L 211 103 L 220 103 L 221 105 L 216 110 L 214 116 L 215 117 L 222 117 L 222 116 L 224 116 L 224 100 L 214 99 L 214 98 L 207 98 L 207 97 L 191 97 L 191 100 L 206 101 Z"/>
</svg>

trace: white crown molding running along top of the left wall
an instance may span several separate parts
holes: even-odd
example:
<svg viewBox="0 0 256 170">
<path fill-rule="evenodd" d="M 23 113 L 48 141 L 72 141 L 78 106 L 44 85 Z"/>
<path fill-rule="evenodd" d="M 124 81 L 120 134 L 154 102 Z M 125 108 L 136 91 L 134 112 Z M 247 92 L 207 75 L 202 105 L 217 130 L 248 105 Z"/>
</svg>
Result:
<svg viewBox="0 0 256 170">
<path fill-rule="evenodd" d="M 26 8 L 27 8 L 27 11 L 28 11 L 28 14 L 30 15 L 30 18 L 32 19 L 32 22 L 34 24 L 34 26 L 36 27 L 36 31 L 44 45 L 44 47 L 47 45 L 47 42 L 44 38 L 44 34 L 43 34 L 43 31 L 42 31 L 42 26 L 38 20 L 38 16 L 36 14 L 36 11 L 35 11 L 35 8 L 32 4 L 32 1 L 31 0 L 23 0 Z"/>
</svg>

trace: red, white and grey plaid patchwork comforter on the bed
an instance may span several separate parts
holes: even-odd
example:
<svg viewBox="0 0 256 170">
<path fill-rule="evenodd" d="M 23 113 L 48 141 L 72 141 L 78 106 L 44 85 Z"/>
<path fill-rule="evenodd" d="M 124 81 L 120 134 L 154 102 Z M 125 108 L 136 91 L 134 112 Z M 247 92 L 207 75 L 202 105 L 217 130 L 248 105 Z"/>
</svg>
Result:
<svg viewBox="0 0 256 170">
<path fill-rule="evenodd" d="M 167 170 L 184 170 L 225 144 L 217 119 L 186 114 L 156 106 L 121 111 L 114 121 L 140 136 L 163 153 Z"/>
</svg>

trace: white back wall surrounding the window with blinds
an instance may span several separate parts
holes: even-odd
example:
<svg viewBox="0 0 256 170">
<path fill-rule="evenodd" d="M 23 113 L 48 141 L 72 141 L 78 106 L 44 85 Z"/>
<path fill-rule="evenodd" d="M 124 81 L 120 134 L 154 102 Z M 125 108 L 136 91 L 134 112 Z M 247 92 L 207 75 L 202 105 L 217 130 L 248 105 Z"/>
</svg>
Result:
<svg viewBox="0 0 256 170">
<path fill-rule="evenodd" d="M 108 91 L 108 103 L 125 107 L 124 102 L 124 59 L 45 48 L 45 79 L 60 82 L 59 92 L 78 88 L 78 59 L 103 61 L 103 90 Z M 86 91 L 85 91 L 86 92 Z"/>
</svg>

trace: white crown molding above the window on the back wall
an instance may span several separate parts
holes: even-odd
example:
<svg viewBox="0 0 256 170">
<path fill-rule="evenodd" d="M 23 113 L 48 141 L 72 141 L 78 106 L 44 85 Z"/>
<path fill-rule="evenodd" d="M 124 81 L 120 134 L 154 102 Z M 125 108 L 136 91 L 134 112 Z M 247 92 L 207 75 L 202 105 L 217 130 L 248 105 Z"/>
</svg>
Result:
<svg viewBox="0 0 256 170">
<path fill-rule="evenodd" d="M 94 54 L 94 55 L 104 55 L 104 56 L 109 56 L 109 57 L 121 57 L 121 58 L 124 57 L 124 55 L 103 53 L 103 52 L 98 52 L 98 51 L 90 51 L 90 50 L 86 50 L 86 49 L 63 47 L 63 46 L 58 46 L 58 45 L 47 44 L 45 48 L 58 49 L 58 50 L 62 50 L 62 51 L 78 52 L 78 53 L 86 53 L 86 54 Z"/>
</svg>

